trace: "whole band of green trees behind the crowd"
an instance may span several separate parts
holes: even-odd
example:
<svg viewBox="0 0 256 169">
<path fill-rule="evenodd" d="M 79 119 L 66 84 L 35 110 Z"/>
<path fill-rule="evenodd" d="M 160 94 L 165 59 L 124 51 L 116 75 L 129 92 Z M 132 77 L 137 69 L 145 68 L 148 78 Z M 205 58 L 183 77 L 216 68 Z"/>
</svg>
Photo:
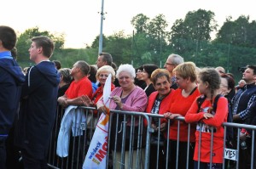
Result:
<svg viewBox="0 0 256 169">
<path fill-rule="evenodd" d="M 156 15 L 153 19 L 144 14 L 137 14 L 131 19 L 134 27 L 132 35 L 124 31 L 103 36 L 102 51 L 112 54 L 116 65 L 155 64 L 162 67 L 169 54 L 180 54 L 185 61 L 193 61 L 198 67 L 223 66 L 236 78 L 241 78 L 239 66 L 255 63 L 256 21 L 249 21 L 249 16 L 241 15 L 236 20 L 229 16 L 217 31 L 217 23 L 212 11 L 198 9 L 189 11 L 184 19 L 177 19 L 168 29 L 166 17 Z M 215 39 L 211 33 L 217 31 Z M 55 54 L 52 59 L 59 59 L 63 66 L 70 67 L 79 59 L 90 65 L 95 64 L 98 53 L 99 36 L 85 48 L 63 48 L 64 36 L 52 35 L 49 31 L 39 31 L 38 27 L 20 34 L 17 42 L 19 60 L 28 59 L 28 42 L 34 36 L 46 35 L 55 41 Z"/>
</svg>

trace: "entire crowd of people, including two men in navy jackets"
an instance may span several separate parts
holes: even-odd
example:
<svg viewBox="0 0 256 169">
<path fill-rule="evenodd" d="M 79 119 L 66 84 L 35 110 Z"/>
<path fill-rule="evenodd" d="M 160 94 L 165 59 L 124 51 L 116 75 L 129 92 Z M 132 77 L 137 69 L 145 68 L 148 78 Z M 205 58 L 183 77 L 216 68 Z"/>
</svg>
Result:
<svg viewBox="0 0 256 169">
<path fill-rule="evenodd" d="M 146 112 L 165 117 L 160 121 L 151 118 L 154 132 L 151 134 L 149 168 L 156 168 L 157 164 L 158 168 L 165 168 L 166 163 L 168 168 L 210 168 L 210 165 L 223 168 L 223 122 L 256 125 L 256 65 L 247 65 L 237 86 L 234 76 L 225 73 L 223 67 L 198 68 L 193 62 L 184 62 L 178 54 L 167 57 L 164 69 L 152 64 L 137 68 L 129 64 L 116 66 L 109 53 L 99 54 L 96 65 L 78 60 L 69 69 L 61 68 L 59 60 L 50 60 L 54 42 L 49 37 L 32 37 L 31 40 L 28 51 L 35 65 L 22 71 L 12 54 L 16 43 L 15 31 L 9 26 L 0 26 L 0 168 L 19 167 L 15 155 L 10 153 L 14 151 L 10 150 L 13 147 L 19 149 L 24 168 L 48 168 L 46 157 L 56 112 L 70 105 L 95 107 L 95 115 L 90 116 L 90 122 L 96 127 L 96 114 L 107 112 L 102 96 L 110 74 L 110 110 Z M 185 121 L 177 121 L 180 116 Z M 171 121 L 170 126 L 167 121 Z M 128 117 L 124 123 L 124 116 L 113 114 L 112 123 L 109 151 L 110 154 L 115 153 L 113 165 L 119 168 L 122 144 L 117 143 L 122 143 L 123 132 L 129 142 L 131 128 L 135 136 L 140 131 L 137 118 L 131 121 Z M 122 125 L 126 125 L 126 131 L 122 131 Z M 147 125 L 144 122 L 144 126 Z M 253 133 L 241 128 L 237 134 L 229 128 L 226 134 L 226 146 L 236 149 L 237 138 L 247 146 L 247 149 L 239 148 L 240 168 L 250 167 Z M 79 139 L 71 137 L 71 142 L 81 141 Z M 134 139 L 137 140 L 136 137 Z M 169 148 L 168 155 L 166 147 Z M 69 149 L 81 150 L 78 147 Z M 184 159 L 188 150 L 187 164 Z M 125 145 L 125 164 L 128 157 L 129 147 Z M 135 158 L 136 155 L 132 168 L 136 168 Z M 80 163 L 74 165 L 81 168 L 82 162 L 80 159 Z M 228 165 L 236 167 L 236 162 Z M 143 164 L 139 167 L 143 168 Z"/>
</svg>

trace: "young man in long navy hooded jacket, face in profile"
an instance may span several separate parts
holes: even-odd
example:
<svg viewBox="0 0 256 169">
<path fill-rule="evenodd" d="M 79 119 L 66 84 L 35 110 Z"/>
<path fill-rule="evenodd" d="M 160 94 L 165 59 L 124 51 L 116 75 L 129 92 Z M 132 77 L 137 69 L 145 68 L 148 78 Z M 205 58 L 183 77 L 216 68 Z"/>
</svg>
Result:
<svg viewBox="0 0 256 169">
<path fill-rule="evenodd" d="M 26 169 L 41 169 L 48 168 L 46 156 L 55 121 L 60 75 L 49 61 L 54 51 L 54 42 L 49 37 L 33 37 L 28 51 L 36 65 L 28 70 L 22 86 L 15 144 L 21 149 Z"/>
</svg>

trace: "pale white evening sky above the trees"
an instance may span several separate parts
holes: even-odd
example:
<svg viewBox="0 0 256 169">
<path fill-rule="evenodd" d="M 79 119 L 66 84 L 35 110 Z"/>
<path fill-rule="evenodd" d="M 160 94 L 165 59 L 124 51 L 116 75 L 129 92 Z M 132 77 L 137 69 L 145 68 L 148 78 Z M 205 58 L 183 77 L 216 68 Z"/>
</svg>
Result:
<svg viewBox="0 0 256 169">
<path fill-rule="evenodd" d="M 253 0 L 103 0 L 102 32 L 105 36 L 124 31 L 132 35 L 132 17 L 144 14 L 153 19 L 164 14 L 170 31 L 175 20 L 184 19 L 189 11 L 211 10 L 218 29 L 227 17 L 236 20 L 250 16 L 256 20 Z M 3 5 L 3 6 L 2 6 Z M 100 34 L 102 0 L 8 0 L 1 3 L 0 25 L 9 25 L 18 35 L 38 26 L 39 31 L 65 35 L 64 48 L 85 48 Z"/>
</svg>

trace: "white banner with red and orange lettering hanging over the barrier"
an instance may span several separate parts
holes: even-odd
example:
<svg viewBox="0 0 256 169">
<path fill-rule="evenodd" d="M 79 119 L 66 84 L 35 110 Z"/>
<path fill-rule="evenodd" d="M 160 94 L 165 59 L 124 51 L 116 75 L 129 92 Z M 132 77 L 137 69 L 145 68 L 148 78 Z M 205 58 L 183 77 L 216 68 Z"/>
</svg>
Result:
<svg viewBox="0 0 256 169">
<path fill-rule="evenodd" d="M 109 112 L 109 96 L 111 93 L 111 74 L 109 74 L 103 88 L 103 103 Z M 90 142 L 90 147 L 85 156 L 83 169 L 103 169 L 106 167 L 108 150 L 108 113 L 100 116 L 96 130 Z"/>
</svg>

